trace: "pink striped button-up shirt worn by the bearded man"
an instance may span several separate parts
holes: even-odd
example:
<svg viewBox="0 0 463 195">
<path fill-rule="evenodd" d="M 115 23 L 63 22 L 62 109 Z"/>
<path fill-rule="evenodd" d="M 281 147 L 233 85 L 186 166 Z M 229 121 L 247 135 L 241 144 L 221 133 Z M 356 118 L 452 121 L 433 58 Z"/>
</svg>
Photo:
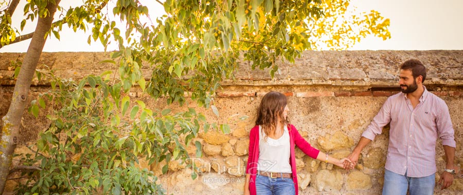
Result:
<svg viewBox="0 0 463 195">
<path fill-rule="evenodd" d="M 390 96 L 362 136 L 381 134 L 390 122 L 387 170 L 407 177 L 426 177 L 436 172 L 436 140 L 455 147 L 454 130 L 447 104 L 424 87 L 415 107 L 406 94 Z"/>
</svg>

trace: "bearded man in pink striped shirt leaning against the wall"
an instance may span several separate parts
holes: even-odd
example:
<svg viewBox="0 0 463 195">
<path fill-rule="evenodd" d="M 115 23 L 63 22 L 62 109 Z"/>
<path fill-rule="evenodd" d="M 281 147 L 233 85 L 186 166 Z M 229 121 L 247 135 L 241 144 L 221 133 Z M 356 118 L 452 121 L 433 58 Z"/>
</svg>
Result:
<svg viewBox="0 0 463 195">
<path fill-rule="evenodd" d="M 402 93 L 390 96 L 348 158 L 357 163 L 362 149 L 390 122 L 383 194 L 433 194 L 436 174 L 436 140 L 442 140 L 447 166 L 439 184 L 452 185 L 455 140 L 446 103 L 423 86 L 426 68 L 419 60 L 400 66 Z M 346 162 L 345 162 L 346 163 Z"/>
</svg>

